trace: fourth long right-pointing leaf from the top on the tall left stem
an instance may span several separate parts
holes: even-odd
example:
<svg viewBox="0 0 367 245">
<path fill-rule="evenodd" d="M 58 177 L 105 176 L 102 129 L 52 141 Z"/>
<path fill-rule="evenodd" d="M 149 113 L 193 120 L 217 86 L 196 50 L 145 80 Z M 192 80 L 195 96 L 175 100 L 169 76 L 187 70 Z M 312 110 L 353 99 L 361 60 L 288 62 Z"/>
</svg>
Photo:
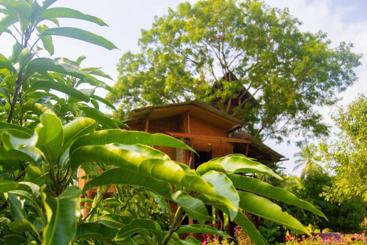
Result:
<svg viewBox="0 0 367 245">
<path fill-rule="evenodd" d="M 59 92 L 65 93 L 67 95 L 76 97 L 78 99 L 81 99 L 85 102 L 89 102 L 89 97 L 84 95 L 82 92 L 80 92 L 79 90 L 70 87 L 68 85 L 59 83 L 59 82 L 55 82 L 55 81 L 37 81 L 34 82 L 31 86 L 31 90 L 37 90 L 37 89 L 44 89 L 44 88 L 48 88 L 48 89 L 54 89 L 57 90 Z"/>
</svg>

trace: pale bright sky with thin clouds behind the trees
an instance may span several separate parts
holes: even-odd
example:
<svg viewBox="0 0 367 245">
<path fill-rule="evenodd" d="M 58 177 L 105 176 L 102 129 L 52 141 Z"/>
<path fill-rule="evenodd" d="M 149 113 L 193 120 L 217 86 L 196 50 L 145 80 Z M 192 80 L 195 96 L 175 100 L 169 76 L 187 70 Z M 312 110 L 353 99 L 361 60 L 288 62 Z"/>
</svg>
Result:
<svg viewBox="0 0 367 245">
<path fill-rule="evenodd" d="M 52 7 L 69 7 L 81 11 L 84 14 L 97 16 L 105 21 L 109 27 L 99 26 L 94 23 L 77 19 L 59 19 L 60 26 L 71 26 L 94 32 L 113 42 L 119 49 L 107 50 L 80 40 L 53 37 L 55 53 L 51 58 L 66 57 L 76 60 L 79 56 L 87 59 L 82 67 L 103 67 L 102 70 L 117 80 L 118 72 L 116 64 L 121 55 L 127 51 L 138 52 L 138 39 L 141 29 L 149 29 L 155 16 L 167 13 L 168 8 L 175 9 L 180 0 L 59 0 Z M 191 2 L 195 2 L 192 0 Z M 302 31 L 317 32 L 322 30 L 332 41 L 332 46 L 338 46 L 340 42 L 353 43 L 353 52 L 366 54 L 362 59 L 362 66 L 356 69 L 359 81 L 351 88 L 343 92 L 343 99 L 339 106 L 350 103 L 358 93 L 367 94 L 367 1 L 366 0 L 265 0 L 271 7 L 288 8 L 290 13 L 303 22 L 299 28 Z M 1 17 L 1 14 L 0 14 Z M 45 22 L 46 24 L 46 22 Z M 54 27 L 48 22 L 49 27 Z M 15 33 L 15 31 L 13 31 Z M 32 42 L 31 42 L 32 43 Z M 11 55 L 11 47 L 14 40 L 7 33 L 0 36 L 0 53 L 8 57 Z M 40 56 L 49 57 L 46 51 Z M 109 85 L 114 82 L 104 80 Z M 103 90 L 97 90 L 99 96 L 104 96 Z M 335 108 L 318 108 L 324 115 L 325 121 L 331 123 L 329 113 Z M 102 109 L 107 112 L 106 109 Z M 296 140 L 296 139 L 292 139 Z M 286 156 L 290 160 L 282 162 L 286 172 L 300 174 L 300 170 L 293 172 L 294 153 L 298 148 L 286 143 L 276 144 L 274 141 L 266 141 L 268 146 Z"/>
</svg>

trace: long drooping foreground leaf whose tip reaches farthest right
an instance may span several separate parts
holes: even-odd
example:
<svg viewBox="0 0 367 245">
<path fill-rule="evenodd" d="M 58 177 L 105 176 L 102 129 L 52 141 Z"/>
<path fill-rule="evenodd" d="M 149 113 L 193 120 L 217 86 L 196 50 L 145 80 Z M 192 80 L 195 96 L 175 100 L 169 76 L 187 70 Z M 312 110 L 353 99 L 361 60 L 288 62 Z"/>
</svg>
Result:
<svg viewBox="0 0 367 245">
<path fill-rule="evenodd" d="M 268 198 L 273 198 L 297 207 L 301 207 L 302 209 L 309 210 L 310 212 L 327 219 L 323 212 L 316 209 L 316 207 L 311 203 L 298 199 L 297 196 L 289 191 L 286 191 L 285 189 L 273 187 L 272 185 L 255 178 L 245 177 L 237 174 L 228 174 L 227 176 L 233 182 L 234 187 L 238 189 L 256 193 L 261 196 L 267 196 Z"/>
</svg>

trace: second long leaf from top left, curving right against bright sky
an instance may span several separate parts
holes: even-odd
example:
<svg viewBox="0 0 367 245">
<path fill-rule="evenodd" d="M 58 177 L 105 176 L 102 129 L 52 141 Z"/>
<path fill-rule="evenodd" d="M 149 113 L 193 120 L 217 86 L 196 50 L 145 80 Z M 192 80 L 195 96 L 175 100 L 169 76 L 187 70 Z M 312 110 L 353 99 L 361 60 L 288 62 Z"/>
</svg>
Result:
<svg viewBox="0 0 367 245">
<path fill-rule="evenodd" d="M 112 42 L 103 38 L 102 36 L 98 36 L 92 32 L 84 31 L 79 28 L 74 28 L 74 27 L 50 28 L 44 31 L 41 34 L 41 37 L 48 36 L 48 35 L 65 36 L 68 38 L 74 38 L 74 39 L 82 40 L 88 43 L 93 43 L 101 47 L 105 47 L 108 50 L 117 49 L 117 47 Z"/>
</svg>

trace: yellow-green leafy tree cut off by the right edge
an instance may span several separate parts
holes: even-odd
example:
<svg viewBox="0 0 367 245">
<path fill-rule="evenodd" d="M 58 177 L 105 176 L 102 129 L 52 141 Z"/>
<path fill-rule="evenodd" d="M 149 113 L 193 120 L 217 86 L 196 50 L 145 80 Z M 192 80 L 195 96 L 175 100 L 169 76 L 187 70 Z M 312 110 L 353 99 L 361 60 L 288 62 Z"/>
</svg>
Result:
<svg viewBox="0 0 367 245">
<path fill-rule="evenodd" d="M 333 115 L 336 138 L 320 144 L 323 161 L 339 176 L 326 188 L 326 198 L 367 200 L 367 98 L 360 95 Z"/>
</svg>

